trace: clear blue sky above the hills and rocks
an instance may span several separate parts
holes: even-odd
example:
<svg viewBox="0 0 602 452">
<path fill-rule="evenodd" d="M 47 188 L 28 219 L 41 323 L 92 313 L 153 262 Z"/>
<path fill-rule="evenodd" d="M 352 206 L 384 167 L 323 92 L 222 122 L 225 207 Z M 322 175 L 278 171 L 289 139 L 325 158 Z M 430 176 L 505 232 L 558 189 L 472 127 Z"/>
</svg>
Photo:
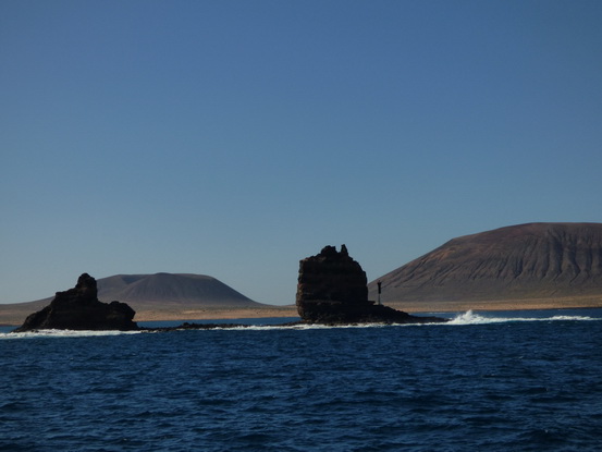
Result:
<svg viewBox="0 0 602 452">
<path fill-rule="evenodd" d="M 602 1 L 0 1 L 0 303 L 189 272 L 294 303 L 602 222 Z"/>
</svg>

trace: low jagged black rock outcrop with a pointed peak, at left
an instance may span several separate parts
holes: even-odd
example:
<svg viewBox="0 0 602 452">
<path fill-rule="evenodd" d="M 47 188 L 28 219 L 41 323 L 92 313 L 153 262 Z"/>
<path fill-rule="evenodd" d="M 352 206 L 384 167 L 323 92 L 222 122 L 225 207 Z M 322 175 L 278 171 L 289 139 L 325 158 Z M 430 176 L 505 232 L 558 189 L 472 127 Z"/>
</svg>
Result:
<svg viewBox="0 0 602 452">
<path fill-rule="evenodd" d="M 75 288 L 57 292 L 48 306 L 29 315 L 14 332 L 41 329 L 137 330 L 138 326 L 132 320 L 135 314 L 125 303 L 100 302 L 96 280 L 84 273 L 77 279 Z"/>
</svg>

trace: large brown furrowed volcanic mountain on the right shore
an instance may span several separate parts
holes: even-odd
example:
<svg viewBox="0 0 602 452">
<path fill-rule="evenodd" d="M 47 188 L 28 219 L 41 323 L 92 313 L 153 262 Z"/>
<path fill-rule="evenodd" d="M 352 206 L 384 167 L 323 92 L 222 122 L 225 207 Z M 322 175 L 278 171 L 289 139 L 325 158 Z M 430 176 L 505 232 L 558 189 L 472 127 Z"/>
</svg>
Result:
<svg viewBox="0 0 602 452">
<path fill-rule="evenodd" d="M 369 284 L 383 303 L 553 301 L 602 305 L 602 224 L 528 223 L 453 239 Z"/>
</svg>

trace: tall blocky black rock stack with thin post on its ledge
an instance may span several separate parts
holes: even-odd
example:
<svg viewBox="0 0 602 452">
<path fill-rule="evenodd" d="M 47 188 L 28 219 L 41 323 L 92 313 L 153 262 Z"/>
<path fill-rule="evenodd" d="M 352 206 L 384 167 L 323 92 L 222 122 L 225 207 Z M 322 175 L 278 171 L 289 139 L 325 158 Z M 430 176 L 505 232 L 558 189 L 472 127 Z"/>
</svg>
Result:
<svg viewBox="0 0 602 452">
<path fill-rule="evenodd" d="M 325 246 L 320 254 L 299 262 L 297 311 L 316 323 L 423 323 L 445 321 L 416 317 L 368 300 L 366 272 L 343 245 L 341 252 Z"/>
</svg>

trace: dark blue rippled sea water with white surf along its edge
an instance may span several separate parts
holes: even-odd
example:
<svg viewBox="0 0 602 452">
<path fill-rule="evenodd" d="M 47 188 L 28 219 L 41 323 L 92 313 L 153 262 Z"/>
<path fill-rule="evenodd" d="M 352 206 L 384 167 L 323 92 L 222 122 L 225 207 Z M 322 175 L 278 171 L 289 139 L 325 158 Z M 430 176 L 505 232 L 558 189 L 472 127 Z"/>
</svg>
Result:
<svg viewBox="0 0 602 452">
<path fill-rule="evenodd" d="M 601 309 L 0 333 L 0 364 L 1 451 L 602 450 Z"/>
</svg>

